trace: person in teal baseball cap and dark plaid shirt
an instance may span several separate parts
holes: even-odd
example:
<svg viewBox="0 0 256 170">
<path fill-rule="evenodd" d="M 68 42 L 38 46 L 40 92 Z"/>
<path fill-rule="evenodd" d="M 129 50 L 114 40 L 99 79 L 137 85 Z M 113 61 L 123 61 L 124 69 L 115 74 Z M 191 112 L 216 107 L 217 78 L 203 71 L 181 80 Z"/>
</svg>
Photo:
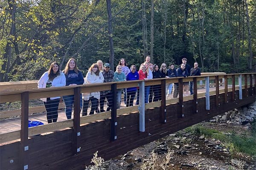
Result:
<svg viewBox="0 0 256 170">
<path fill-rule="evenodd" d="M 104 82 L 113 82 L 114 81 L 114 72 L 110 70 L 110 64 L 107 62 L 104 64 L 104 70 L 102 71 Z M 99 106 L 100 112 L 105 112 L 104 110 L 104 102 L 105 99 L 108 101 L 108 108 L 107 111 L 112 109 L 113 99 L 111 91 L 101 91 L 100 92 L 100 99 L 99 99 Z"/>
</svg>

